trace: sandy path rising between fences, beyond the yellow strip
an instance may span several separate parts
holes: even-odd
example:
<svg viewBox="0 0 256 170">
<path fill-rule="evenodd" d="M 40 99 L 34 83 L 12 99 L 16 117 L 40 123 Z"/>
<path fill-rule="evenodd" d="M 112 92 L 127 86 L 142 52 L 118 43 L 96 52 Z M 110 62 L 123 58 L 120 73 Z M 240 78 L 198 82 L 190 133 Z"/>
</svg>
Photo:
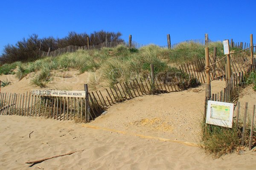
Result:
<svg viewBox="0 0 256 170">
<path fill-rule="evenodd" d="M 212 93 L 218 93 L 224 86 L 224 81 L 213 81 Z M 199 142 L 199 122 L 204 114 L 204 99 L 203 85 L 186 91 L 141 96 L 111 106 L 107 114 L 99 116 L 90 124 L 174 140 Z"/>
</svg>

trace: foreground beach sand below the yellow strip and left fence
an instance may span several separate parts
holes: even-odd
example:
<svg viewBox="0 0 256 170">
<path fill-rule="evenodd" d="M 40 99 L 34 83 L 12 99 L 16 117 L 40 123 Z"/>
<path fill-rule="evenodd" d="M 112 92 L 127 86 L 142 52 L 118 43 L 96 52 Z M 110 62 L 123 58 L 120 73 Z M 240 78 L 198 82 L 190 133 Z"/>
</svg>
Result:
<svg viewBox="0 0 256 170">
<path fill-rule="evenodd" d="M 20 116 L 1 116 L 0 142 L 2 170 L 252 170 L 256 166 L 253 151 L 212 159 L 204 150 L 185 144 Z M 25 164 L 76 150 L 84 151 L 32 167 Z"/>
</svg>

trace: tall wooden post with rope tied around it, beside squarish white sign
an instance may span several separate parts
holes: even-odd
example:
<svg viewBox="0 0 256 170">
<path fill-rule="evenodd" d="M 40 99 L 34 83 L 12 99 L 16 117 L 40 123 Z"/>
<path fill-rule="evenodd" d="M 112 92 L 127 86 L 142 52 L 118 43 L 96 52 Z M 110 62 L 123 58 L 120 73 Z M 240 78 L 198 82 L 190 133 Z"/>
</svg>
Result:
<svg viewBox="0 0 256 170">
<path fill-rule="evenodd" d="M 205 106 L 207 105 L 207 102 L 209 99 L 211 99 L 211 79 L 210 79 L 210 68 L 209 68 L 209 47 L 204 48 L 205 52 L 205 70 L 206 70 L 206 86 L 205 86 L 205 98 L 206 98 L 206 103 Z M 205 107 L 206 108 L 206 107 Z M 206 120 L 206 110 L 204 110 L 204 122 Z"/>
</svg>

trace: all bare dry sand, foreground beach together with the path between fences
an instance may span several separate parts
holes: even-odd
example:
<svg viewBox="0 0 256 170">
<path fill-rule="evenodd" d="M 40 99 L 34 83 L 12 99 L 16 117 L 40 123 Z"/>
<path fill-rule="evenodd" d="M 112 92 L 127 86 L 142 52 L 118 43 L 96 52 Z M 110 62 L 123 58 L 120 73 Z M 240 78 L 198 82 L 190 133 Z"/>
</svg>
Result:
<svg viewBox="0 0 256 170">
<path fill-rule="evenodd" d="M 222 81 L 212 82 L 213 92 L 217 93 L 223 87 Z M 199 141 L 198 122 L 203 113 L 204 94 L 204 86 L 201 86 L 188 91 L 128 100 L 111 106 L 108 113 L 85 124 L 99 128 L 69 121 L 0 116 L 0 169 L 255 169 L 256 153 L 253 151 L 212 159 L 199 147 L 172 142 Z M 136 134 L 164 140 L 141 138 Z M 29 160 L 76 150 L 84 151 L 49 159 L 32 167 L 25 164 Z"/>
</svg>

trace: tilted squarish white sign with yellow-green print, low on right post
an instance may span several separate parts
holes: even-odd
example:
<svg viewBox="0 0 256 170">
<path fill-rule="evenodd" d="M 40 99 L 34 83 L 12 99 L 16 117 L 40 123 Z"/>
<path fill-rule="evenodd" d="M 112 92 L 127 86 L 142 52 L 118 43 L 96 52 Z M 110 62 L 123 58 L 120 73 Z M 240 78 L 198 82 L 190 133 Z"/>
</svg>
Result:
<svg viewBox="0 0 256 170">
<path fill-rule="evenodd" d="M 232 127 L 234 103 L 208 100 L 206 123 L 224 127 Z"/>
</svg>

